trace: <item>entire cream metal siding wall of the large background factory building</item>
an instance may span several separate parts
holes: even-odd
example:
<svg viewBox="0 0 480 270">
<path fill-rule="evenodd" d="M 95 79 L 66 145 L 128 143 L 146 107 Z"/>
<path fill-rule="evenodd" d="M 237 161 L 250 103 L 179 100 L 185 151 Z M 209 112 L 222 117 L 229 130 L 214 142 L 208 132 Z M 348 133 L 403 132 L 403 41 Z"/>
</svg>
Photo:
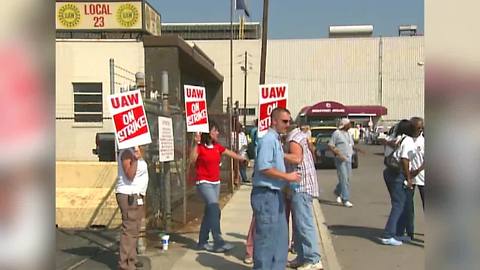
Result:
<svg viewBox="0 0 480 270">
<path fill-rule="evenodd" d="M 424 115 L 423 36 L 383 39 L 383 103 L 379 96 L 380 38 L 269 40 L 267 83 L 288 83 L 293 115 L 306 106 L 333 100 L 345 105 L 383 105 L 384 120 Z M 224 76 L 224 103 L 230 95 L 229 41 L 195 41 Z M 243 52 L 252 57 L 247 106 L 258 104 L 260 40 L 234 41 L 233 96 L 243 106 Z"/>
</svg>

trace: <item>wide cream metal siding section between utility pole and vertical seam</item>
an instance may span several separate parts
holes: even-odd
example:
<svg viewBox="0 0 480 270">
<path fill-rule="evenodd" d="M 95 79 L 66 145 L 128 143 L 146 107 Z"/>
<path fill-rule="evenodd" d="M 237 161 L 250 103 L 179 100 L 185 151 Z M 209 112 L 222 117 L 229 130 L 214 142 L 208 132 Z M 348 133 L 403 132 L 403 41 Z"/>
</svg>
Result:
<svg viewBox="0 0 480 270">
<path fill-rule="evenodd" d="M 378 39 L 271 40 L 266 78 L 288 83 L 294 115 L 325 100 L 378 104 Z"/>
</svg>

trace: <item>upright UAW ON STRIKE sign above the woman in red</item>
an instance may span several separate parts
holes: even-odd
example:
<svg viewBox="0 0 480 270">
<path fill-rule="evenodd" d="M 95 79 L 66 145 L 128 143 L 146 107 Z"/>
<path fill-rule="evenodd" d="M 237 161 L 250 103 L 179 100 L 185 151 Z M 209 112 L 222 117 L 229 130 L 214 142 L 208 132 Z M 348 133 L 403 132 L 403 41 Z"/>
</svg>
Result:
<svg viewBox="0 0 480 270">
<path fill-rule="evenodd" d="M 205 87 L 184 85 L 187 132 L 208 133 L 207 91 Z"/>
</svg>

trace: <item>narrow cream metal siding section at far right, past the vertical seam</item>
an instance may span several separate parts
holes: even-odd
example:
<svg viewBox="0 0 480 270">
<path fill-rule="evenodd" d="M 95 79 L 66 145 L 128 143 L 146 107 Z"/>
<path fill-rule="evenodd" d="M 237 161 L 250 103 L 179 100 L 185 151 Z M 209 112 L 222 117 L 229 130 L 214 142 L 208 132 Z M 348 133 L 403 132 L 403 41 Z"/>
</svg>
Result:
<svg viewBox="0 0 480 270">
<path fill-rule="evenodd" d="M 424 39 L 389 37 L 383 39 L 384 120 L 424 116 Z"/>
</svg>

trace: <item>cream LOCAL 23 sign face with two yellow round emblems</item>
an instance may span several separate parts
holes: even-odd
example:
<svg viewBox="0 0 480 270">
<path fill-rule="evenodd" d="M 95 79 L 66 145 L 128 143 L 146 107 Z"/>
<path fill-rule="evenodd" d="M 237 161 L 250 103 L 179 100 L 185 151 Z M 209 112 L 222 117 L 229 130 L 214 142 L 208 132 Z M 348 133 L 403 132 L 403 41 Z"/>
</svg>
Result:
<svg viewBox="0 0 480 270">
<path fill-rule="evenodd" d="M 57 29 L 142 29 L 142 2 L 57 2 Z"/>
</svg>

